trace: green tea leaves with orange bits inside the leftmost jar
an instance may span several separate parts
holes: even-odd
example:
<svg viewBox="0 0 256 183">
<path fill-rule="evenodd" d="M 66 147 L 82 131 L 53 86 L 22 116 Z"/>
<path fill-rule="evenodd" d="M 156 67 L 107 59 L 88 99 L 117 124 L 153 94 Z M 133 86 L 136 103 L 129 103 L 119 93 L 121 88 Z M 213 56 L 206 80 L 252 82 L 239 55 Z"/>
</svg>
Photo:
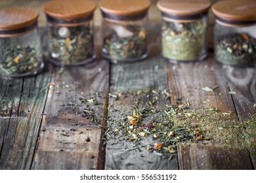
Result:
<svg viewBox="0 0 256 183">
<path fill-rule="evenodd" d="M 0 73 L 3 75 L 19 75 L 39 68 L 41 59 L 39 49 L 32 43 L 4 46 L 0 50 Z"/>
</svg>

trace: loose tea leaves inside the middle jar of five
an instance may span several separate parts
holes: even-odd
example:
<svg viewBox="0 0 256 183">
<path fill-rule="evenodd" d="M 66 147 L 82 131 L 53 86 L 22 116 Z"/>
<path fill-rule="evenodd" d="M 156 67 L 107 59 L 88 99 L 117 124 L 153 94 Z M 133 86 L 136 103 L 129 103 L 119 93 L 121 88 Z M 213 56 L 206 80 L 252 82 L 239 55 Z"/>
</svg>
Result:
<svg viewBox="0 0 256 183">
<path fill-rule="evenodd" d="M 128 25 L 127 29 L 133 34 L 121 37 L 113 30 L 108 37 L 104 38 L 102 52 L 106 58 L 131 60 L 146 54 L 146 31 L 135 25 Z"/>
</svg>

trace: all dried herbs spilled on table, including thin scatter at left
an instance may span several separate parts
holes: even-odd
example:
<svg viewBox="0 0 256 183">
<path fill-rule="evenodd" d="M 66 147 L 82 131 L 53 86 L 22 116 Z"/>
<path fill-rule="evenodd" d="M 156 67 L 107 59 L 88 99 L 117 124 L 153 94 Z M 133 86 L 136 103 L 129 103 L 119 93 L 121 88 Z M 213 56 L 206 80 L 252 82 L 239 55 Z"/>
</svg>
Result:
<svg viewBox="0 0 256 183">
<path fill-rule="evenodd" d="M 93 124 L 101 126 L 104 118 L 104 141 L 110 146 L 125 142 L 129 144 L 125 150 L 145 150 L 161 158 L 173 157 L 178 144 L 209 142 L 256 153 L 252 139 L 256 134 L 256 114 L 238 120 L 234 112 L 223 112 L 212 106 L 211 101 L 205 101 L 200 109 L 193 109 L 193 103 L 181 98 L 170 104 L 170 93 L 166 90 L 108 95 L 115 105 L 108 105 L 107 116 L 103 116 L 102 93 L 81 94 L 77 103 L 68 103 L 66 107 L 75 108 L 77 114 Z M 127 97 L 136 99 L 131 107 L 122 104 Z"/>
</svg>

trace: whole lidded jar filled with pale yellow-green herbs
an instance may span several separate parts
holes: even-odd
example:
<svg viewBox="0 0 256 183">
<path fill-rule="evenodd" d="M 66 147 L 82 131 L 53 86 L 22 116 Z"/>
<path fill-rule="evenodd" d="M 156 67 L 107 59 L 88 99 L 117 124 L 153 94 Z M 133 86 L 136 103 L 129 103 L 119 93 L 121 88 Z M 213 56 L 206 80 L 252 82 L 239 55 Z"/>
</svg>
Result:
<svg viewBox="0 0 256 183">
<path fill-rule="evenodd" d="M 170 61 L 198 61 L 207 56 L 208 0 L 161 0 L 161 54 Z"/>
</svg>

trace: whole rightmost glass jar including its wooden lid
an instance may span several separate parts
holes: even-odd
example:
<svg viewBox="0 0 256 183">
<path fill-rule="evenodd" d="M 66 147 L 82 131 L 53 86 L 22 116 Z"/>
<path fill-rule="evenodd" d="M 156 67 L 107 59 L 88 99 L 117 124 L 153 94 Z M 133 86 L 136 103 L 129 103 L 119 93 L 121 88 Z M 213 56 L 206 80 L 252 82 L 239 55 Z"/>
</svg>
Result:
<svg viewBox="0 0 256 183">
<path fill-rule="evenodd" d="M 256 1 L 221 1 L 215 14 L 215 60 L 246 67 L 256 63 Z"/>
</svg>

